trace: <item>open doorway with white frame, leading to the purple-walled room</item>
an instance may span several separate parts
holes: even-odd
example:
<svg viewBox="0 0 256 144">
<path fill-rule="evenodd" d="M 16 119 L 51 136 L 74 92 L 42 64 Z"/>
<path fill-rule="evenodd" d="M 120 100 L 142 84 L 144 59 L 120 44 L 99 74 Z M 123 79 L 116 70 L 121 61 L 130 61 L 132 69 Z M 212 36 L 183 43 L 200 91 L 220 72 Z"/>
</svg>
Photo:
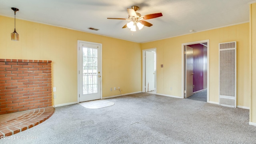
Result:
<svg viewBox="0 0 256 144">
<path fill-rule="evenodd" d="M 183 98 L 209 102 L 209 40 L 182 44 Z"/>
</svg>

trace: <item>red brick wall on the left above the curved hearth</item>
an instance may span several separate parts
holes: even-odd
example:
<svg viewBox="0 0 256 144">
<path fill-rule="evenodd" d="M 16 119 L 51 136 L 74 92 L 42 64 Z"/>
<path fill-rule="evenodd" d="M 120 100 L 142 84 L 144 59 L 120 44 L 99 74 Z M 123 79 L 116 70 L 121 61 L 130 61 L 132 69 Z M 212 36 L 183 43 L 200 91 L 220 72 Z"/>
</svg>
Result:
<svg viewBox="0 0 256 144">
<path fill-rule="evenodd" d="M 0 59 L 0 114 L 52 106 L 51 62 Z"/>
</svg>

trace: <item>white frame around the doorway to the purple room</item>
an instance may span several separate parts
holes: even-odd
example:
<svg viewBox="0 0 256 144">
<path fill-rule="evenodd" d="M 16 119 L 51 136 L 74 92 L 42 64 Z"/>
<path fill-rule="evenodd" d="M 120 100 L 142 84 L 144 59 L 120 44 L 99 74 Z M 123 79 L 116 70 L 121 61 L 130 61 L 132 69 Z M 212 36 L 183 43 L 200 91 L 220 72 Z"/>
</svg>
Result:
<svg viewBox="0 0 256 144">
<path fill-rule="evenodd" d="M 181 98 L 184 98 L 184 89 L 185 89 L 185 65 L 184 65 L 184 46 L 191 44 L 199 44 L 207 42 L 207 102 L 209 102 L 209 91 L 210 91 L 210 40 L 201 40 L 197 42 L 188 42 L 181 44 Z"/>
</svg>

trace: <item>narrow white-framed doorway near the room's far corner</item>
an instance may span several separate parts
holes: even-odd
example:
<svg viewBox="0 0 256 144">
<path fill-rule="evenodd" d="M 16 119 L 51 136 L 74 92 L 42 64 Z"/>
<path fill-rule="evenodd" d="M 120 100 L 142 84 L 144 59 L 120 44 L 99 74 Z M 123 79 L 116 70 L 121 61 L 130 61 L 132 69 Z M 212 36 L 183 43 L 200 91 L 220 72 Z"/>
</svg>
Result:
<svg viewBox="0 0 256 144">
<path fill-rule="evenodd" d="M 156 48 L 143 50 L 142 92 L 156 94 Z"/>
</svg>

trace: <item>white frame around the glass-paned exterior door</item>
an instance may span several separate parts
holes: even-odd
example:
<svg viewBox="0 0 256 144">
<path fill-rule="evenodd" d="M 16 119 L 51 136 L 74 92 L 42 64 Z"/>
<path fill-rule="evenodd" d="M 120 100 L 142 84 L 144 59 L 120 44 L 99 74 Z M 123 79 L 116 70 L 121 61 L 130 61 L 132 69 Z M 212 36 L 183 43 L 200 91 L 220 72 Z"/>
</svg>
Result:
<svg viewBox="0 0 256 144">
<path fill-rule="evenodd" d="M 78 40 L 77 41 L 77 102 L 80 102 L 80 98 L 79 98 L 79 42 L 83 42 L 83 43 L 88 43 L 88 44 L 97 44 L 100 45 L 100 74 L 101 74 L 101 78 L 100 78 L 100 99 L 102 99 L 102 44 L 100 43 L 96 43 L 96 42 L 87 42 L 87 41 L 83 41 L 83 40 Z"/>
</svg>

